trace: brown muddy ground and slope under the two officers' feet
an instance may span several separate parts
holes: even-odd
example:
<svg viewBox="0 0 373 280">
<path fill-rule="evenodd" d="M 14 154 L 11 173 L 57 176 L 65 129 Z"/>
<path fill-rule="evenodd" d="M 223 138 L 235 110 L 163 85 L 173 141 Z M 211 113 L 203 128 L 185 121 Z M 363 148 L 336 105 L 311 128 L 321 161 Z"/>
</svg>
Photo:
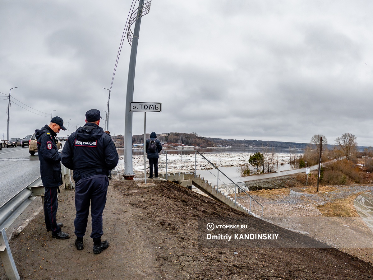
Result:
<svg viewBox="0 0 373 280">
<path fill-rule="evenodd" d="M 103 214 L 103 240 L 110 246 L 100 255 L 92 252 L 90 222 L 85 248 L 76 250 L 74 190 L 62 190 L 57 221 L 64 223 L 63 231 L 72 238 L 53 239 L 45 230 L 43 213 L 37 215 L 10 240 L 21 279 L 370 279 L 373 275 L 370 262 L 335 248 L 301 248 L 325 244 L 176 184 L 150 181 L 152 186 L 139 186 L 141 181 L 117 177 L 110 183 Z M 270 248 L 273 244 L 262 240 L 227 245 L 203 239 L 198 224 L 227 219 L 244 221 L 250 232 L 279 234 L 282 240 L 275 247 L 280 248 Z M 0 279 L 7 279 L 3 268 Z"/>
</svg>

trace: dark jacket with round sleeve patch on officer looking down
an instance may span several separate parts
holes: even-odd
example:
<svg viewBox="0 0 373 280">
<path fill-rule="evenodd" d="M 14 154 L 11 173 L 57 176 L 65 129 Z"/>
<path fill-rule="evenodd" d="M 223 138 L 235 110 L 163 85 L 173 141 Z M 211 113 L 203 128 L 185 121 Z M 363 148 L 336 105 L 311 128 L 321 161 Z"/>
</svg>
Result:
<svg viewBox="0 0 373 280">
<path fill-rule="evenodd" d="M 62 184 L 61 154 L 57 149 L 57 134 L 45 125 L 35 130 L 43 186 L 58 187 Z"/>
</svg>

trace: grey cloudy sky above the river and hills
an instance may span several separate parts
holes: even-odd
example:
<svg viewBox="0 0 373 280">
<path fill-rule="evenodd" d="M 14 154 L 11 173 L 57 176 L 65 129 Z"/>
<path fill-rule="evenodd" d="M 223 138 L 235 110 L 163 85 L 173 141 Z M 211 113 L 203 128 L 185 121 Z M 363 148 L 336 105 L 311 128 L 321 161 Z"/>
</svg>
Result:
<svg viewBox="0 0 373 280">
<path fill-rule="evenodd" d="M 48 124 L 52 110 L 65 126 L 71 119 L 69 133 L 88 109 L 106 111 L 102 87 L 110 88 L 131 3 L 0 2 L 1 139 L 1 99 L 12 87 L 33 109 L 11 99 L 9 137 Z M 147 132 L 304 143 L 324 134 L 329 144 L 349 132 L 372 145 L 372 6 L 153 0 L 141 21 L 134 92 L 134 101 L 162 102 L 162 113 L 147 114 Z M 110 99 L 113 135 L 124 134 L 130 51 L 125 40 Z M 144 113 L 133 121 L 142 134 Z"/>
</svg>

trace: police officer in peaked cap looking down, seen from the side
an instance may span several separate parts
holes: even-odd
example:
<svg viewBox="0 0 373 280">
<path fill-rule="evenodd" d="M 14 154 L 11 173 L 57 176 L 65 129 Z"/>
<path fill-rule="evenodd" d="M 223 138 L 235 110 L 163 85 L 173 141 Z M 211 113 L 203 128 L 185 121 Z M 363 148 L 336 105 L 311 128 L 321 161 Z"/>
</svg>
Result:
<svg viewBox="0 0 373 280">
<path fill-rule="evenodd" d="M 58 239 L 67 239 L 68 233 L 61 231 L 62 223 L 57 223 L 56 213 L 58 208 L 57 190 L 62 184 L 61 154 L 57 148 L 57 133 L 66 130 L 63 119 L 55 116 L 49 125 L 40 130 L 35 130 L 37 139 L 38 157 L 40 161 L 40 176 L 45 189 L 44 194 L 44 220 L 47 231 L 52 231 L 52 236 Z"/>
</svg>

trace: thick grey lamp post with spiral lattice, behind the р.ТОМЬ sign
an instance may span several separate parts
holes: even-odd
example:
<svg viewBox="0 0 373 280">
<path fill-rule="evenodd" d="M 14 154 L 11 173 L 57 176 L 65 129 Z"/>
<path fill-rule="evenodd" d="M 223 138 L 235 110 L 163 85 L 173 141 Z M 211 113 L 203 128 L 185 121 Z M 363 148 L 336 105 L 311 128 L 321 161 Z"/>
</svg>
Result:
<svg viewBox="0 0 373 280">
<path fill-rule="evenodd" d="M 124 174 L 125 179 L 131 180 L 135 174 L 132 167 L 132 112 L 129 110 L 130 102 L 134 101 L 135 84 L 135 66 L 137 55 L 137 44 L 140 33 L 141 17 L 149 13 L 151 0 L 139 0 L 138 8 L 132 13 L 128 24 L 127 39 L 131 45 L 131 55 L 129 57 L 126 109 L 125 109 L 125 128 L 124 128 Z M 145 4 L 144 4 L 145 2 Z M 134 32 L 131 31 L 131 25 L 135 23 Z"/>
</svg>

